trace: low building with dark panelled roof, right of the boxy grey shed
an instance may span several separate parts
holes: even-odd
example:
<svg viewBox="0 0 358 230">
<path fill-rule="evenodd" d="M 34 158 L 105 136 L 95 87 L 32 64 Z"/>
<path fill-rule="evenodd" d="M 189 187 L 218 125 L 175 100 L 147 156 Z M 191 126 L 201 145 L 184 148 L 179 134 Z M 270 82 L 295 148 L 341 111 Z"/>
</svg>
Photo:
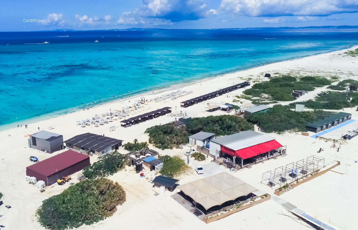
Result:
<svg viewBox="0 0 358 230">
<path fill-rule="evenodd" d="M 122 140 L 93 133 L 84 133 L 74 136 L 67 141 L 64 141 L 64 143 L 66 143 L 66 147 L 68 148 L 73 148 L 75 150 L 90 150 L 96 155 L 102 155 L 111 150 L 117 150 L 122 146 Z"/>
</svg>

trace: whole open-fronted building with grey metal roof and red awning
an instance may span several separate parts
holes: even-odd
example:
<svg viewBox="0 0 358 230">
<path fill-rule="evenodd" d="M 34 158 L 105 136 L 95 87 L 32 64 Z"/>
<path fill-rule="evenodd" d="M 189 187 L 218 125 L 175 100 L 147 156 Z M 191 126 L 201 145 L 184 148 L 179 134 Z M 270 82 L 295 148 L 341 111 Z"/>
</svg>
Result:
<svg viewBox="0 0 358 230">
<path fill-rule="evenodd" d="M 248 130 L 210 140 L 210 153 L 238 169 L 285 154 L 286 149 L 275 138 Z"/>
</svg>

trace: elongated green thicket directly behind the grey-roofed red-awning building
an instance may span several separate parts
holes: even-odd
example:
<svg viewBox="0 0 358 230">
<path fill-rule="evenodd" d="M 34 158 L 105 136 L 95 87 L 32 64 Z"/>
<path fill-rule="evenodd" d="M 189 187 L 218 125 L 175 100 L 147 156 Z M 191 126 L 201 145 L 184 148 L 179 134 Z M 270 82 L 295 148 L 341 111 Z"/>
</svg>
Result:
<svg viewBox="0 0 358 230">
<path fill-rule="evenodd" d="M 253 130 L 253 125 L 242 117 L 220 115 L 209 117 L 195 117 L 184 127 L 175 128 L 173 123 L 147 128 L 149 143 L 162 150 L 178 148 L 189 142 L 189 136 L 200 131 L 216 133 L 216 135 L 230 135 L 233 133 Z"/>
</svg>

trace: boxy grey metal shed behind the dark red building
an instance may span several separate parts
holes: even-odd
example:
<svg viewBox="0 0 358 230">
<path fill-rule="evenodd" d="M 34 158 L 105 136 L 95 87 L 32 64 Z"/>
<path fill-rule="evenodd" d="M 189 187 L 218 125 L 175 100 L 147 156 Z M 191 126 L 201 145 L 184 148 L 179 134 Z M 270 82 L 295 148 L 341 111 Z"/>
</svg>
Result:
<svg viewBox="0 0 358 230">
<path fill-rule="evenodd" d="M 29 148 L 53 153 L 63 149 L 63 136 L 48 131 L 40 131 L 29 136 Z"/>
</svg>

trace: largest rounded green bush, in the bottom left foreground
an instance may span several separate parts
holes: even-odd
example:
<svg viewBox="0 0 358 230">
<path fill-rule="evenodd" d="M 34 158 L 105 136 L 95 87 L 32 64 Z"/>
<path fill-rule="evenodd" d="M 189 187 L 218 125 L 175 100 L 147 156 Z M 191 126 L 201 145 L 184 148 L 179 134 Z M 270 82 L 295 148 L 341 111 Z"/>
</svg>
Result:
<svg viewBox="0 0 358 230">
<path fill-rule="evenodd" d="M 126 193 L 118 182 L 83 180 L 42 201 L 36 216 L 46 229 L 72 229 L 112 216 L 125 201 Z"/>
</svg>

